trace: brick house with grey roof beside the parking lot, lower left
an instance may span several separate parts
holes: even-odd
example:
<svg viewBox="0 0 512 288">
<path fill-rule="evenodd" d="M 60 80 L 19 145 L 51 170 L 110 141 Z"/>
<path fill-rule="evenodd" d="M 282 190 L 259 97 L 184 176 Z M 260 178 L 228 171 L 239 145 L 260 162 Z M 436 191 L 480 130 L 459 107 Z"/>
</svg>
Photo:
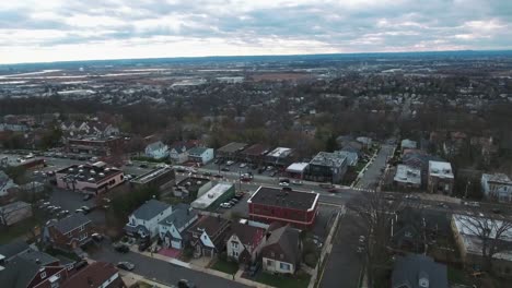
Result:
<svg viewBox="0 0 512 288">
<path fill-rule="evenodd" d="M 89 243 L 95 232 L 92 221 L 75 213 L 60 220 L 53 219 L 44 227 L 43 239 L 56 249 L 74 251 Z"/>
</svg>

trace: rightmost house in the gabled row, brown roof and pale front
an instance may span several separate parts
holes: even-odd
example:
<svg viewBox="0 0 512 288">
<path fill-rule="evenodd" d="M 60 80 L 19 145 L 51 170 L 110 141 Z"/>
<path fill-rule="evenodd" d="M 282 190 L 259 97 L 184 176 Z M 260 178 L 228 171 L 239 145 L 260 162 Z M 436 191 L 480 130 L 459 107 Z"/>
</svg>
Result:
<svg viewBox="0 0 512 288">
<path fill-rule="evenodd" d="M 263 269 L 269 273 L 294 274 L 301 263 L 299 230 L 283 226 L 267 235 L 261 249 Z"/>
</svg>

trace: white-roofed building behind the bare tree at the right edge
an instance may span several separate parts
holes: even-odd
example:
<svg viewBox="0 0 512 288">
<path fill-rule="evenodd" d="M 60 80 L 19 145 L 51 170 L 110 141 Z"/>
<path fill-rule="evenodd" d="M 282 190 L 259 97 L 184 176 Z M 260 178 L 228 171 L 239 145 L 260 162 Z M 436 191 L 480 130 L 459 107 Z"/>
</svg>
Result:
<svg viewBox="0 0 512 288">
<path fill-rule="evenodd" d="M 487 221 L 487 223 L 486 223 Z M 489 219 L 480 216 L 468 216 L 461 214 L 452 215 L 452 231 L 455 243 L 458 248 L 463 263 L 475 271 L 481 269 L 482 245 L 481 236 L 487 233 L 482 229 L 490 229 L 489 235 L 493 236 L 497 229 L 502 227 L 499 243 L 500 249 L 492 256 L 492 269 L 500 276 L 510 277 L 512 273 L 512 228 L 502 225 L 499 219 Z M 487 240 L 494 241 L 492 239 Z"/>
</svg>

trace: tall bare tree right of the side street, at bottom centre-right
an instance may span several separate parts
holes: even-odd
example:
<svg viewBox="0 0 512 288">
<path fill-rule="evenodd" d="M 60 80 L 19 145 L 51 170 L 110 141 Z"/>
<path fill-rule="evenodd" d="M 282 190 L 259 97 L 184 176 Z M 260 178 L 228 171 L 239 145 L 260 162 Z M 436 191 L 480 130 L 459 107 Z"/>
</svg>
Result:
<svg viewBox="0 0 512 288">
<path fill-rule="evenodd" d="M 361 219 L 368 287 L 374 287 L 375 279 L 391 265 L 391 227 L 402 203 L 400 197 L 383 192 L 365 192 L 347 204 L 347 208 Z"/>
</svg>

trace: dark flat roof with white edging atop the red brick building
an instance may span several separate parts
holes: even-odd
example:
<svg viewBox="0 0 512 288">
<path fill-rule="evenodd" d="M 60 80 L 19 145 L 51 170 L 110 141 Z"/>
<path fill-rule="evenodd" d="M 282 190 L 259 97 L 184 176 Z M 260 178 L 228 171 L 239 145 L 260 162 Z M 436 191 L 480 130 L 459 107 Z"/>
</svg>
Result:
<svg viewBox="0 0 512 288">
<path fill-rule="evenodd" d="M 315 192 L 259 187 L 251 199 L 247 200 L 247 203 L 311 211 L 315 207 L 318 196 L 319 194 Z"/>
</svg>

